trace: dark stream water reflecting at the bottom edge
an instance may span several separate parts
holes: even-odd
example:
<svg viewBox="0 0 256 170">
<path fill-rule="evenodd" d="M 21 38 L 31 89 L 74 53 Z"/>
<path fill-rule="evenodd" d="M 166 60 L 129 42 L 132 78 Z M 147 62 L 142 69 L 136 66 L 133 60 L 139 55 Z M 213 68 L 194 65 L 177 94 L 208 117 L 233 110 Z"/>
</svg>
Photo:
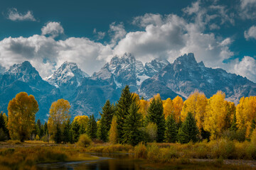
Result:
<svg viewBox="0 0 256 170">
<path fill-rule="evenodd" d="M 126 158 L 101 158 L 95 162 L 68 162 L 55 164 L 40 164 L 38 170 L 144 170 L 142 161 Z"/>
</svg>

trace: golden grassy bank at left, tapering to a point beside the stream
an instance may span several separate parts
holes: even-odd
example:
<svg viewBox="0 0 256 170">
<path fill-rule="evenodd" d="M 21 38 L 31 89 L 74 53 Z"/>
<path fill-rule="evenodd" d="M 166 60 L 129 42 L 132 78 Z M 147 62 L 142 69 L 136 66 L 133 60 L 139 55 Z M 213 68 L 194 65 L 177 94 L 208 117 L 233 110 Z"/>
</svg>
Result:
<svg viewBox="0 0 256 170">
<path fill-rule="evenodd" d="M 8 145 L 8 143 L 5 145 Z M 90 161 L 95 159 L 97 157 L 86 154 L 85 151 L 80 147 L 75 147 L 75 145 L 45 144 L 42 146 L 41 142 L 25 142 L 17 144 L 14 148 L 0 149 L 1 170 L 36 169 L 36 164 L 39 163 Z"/>
</svg>

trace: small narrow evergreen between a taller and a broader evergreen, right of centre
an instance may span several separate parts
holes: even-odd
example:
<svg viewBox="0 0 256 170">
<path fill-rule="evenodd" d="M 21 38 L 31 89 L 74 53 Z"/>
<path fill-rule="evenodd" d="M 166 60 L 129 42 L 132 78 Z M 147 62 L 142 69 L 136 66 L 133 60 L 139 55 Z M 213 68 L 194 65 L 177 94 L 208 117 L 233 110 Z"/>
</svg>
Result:
<svg viewBox="0 0 256 170">
<path fill-rule="evenodd" d="M 169 115 L 166 120 L 165 141 L 175 143 L 177 141 L 178 128 L 173 115 Z"/>
</svg>

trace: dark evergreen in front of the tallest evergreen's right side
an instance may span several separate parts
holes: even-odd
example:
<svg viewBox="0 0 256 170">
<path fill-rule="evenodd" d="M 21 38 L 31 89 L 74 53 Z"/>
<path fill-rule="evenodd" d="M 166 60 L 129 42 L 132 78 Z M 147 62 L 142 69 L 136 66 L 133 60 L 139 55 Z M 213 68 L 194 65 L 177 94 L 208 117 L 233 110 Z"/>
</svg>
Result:
<svg viewBox="0 0 256 170">
<path fill-rule="evenodd" d="M 142 141 L 142 113 L 139 113 L 139 106 L 135 102 L 129 108 L 129 115 L 124 120 L 124 143 L 137 145 Z"/>
</svg>

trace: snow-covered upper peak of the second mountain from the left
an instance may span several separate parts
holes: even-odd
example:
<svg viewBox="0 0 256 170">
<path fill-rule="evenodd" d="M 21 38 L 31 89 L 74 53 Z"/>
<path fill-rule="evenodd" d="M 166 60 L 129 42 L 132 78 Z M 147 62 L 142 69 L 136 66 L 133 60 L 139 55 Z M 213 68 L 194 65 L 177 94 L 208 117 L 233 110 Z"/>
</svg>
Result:
<svg viewBox="0 0 256 170">
<path fill-rule="evenodd" d="M 85 77 L 89 77 L 89 75 L 82 72 L 76 63 L 64 62 L 52 75 L 46 77 L 45 80 L 56 87 L 68 85 L 80 86 L 82 79 Z"/>
</svg>

